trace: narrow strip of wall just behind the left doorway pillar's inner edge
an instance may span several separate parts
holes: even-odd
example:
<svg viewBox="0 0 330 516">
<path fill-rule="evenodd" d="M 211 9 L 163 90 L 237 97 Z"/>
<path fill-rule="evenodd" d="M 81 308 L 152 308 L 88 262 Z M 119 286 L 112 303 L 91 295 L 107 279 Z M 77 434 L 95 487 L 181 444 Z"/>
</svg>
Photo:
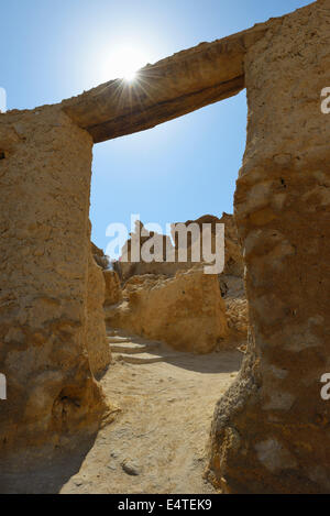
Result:
<svg viewBox="0 0 330 516">
<path fill-rule="evenodd" d="M 86 344 L 89 365 L 95 375 L 103 371 L 111 362 L 111 351 L 107 340 L 103 311 L 105 290 L 103 272 L 97 265 L 90 252 L 88 262 Z"/>
</svg>

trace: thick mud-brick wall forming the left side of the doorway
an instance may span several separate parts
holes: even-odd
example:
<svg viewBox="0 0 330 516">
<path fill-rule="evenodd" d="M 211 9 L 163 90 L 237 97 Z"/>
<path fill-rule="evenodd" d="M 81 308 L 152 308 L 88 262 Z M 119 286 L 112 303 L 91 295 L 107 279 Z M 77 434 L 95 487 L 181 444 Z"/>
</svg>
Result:
<svg viewBox="0 0 330 516">
<path fill-rule="evenodd" d="M 0 118 L 0 452 L 105 408 L 86 352 L 92 141 L 57 107 Z"/>
</svg>

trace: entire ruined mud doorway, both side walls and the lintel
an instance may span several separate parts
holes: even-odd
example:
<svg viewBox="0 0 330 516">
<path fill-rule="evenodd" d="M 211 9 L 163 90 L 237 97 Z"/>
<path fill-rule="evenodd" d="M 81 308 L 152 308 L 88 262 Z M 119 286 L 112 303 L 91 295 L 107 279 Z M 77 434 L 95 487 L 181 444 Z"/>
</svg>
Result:
<svg viewBox="0 0 330 516">
<path fill-rule="evenodd" d="M 250 350 L 216 407 L 208 475 L 224 492 L 330 492 L 329 69 L 330 1 L 318 0 L 147 65 L 135 84 L 0 114 L 2 459 L 61 446 L 111 413 L 94 376 L 103 334 L 89 329 L 100 309 L 89 297 L 92 145 L 246 88 L 234 206 Z"/>
</svg>

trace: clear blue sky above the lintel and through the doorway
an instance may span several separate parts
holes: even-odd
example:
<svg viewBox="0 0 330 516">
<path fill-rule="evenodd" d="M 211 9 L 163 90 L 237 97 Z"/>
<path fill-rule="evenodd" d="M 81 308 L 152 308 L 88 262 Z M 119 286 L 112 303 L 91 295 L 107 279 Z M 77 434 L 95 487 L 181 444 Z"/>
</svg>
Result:
<svg viewBox="0 0 330 516">
<path fill-rule="evenodd" d="M 78 95 L 112 77 L 120 48 L 154 63 L 309 0 L 1 0 L 0 87 L 9 109 Z M 143 58 L 142 57 L 142 58 Z M 92 239 L 129 224 L 232 212 L 245 145 L 245 92 L 155 129 L 94 147 Z"/>
</svg>

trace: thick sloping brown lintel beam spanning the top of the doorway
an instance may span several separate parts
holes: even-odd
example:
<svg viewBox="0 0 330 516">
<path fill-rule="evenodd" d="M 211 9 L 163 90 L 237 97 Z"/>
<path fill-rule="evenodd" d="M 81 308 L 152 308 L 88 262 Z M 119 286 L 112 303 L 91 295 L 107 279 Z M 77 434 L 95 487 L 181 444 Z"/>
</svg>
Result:
<svg viewBox="0 0 330 516">
<path fill-rule="evenodd" d="M 260 23 L 229 37 L 178 52 L 146 65 L 133 84 L 110 80 L 63 101 L 63 109 L 98 143 L 153 128 L 232 97 L 244 88 L 246 48 L 268 26 Z"/>
</svg>

